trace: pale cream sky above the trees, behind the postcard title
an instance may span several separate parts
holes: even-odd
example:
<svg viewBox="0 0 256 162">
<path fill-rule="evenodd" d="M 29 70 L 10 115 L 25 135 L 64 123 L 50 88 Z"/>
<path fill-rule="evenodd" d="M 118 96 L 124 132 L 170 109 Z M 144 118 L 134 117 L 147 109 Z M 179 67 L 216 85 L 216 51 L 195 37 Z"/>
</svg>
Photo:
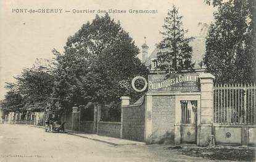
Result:
<svg viewBox="0 0 256 162">
<path fill-rule="evenodd" d="M 98 10 L 125 10 L 126 13 L 109 15 L 120 21 L 140 49 L 146 37 L 151 53 L 162 39 L 159 32 L 163 18 L 173 4 L 183 16 L 188 36 L 197 36 L 199 22 L 209 24 L 213 21 L 215 9 L 204 4 L 204 0 L 0 0 L 0 100 L 6 94 L 5 82 L 15 82 L 14 76 L 33 66 L 36 58 L 51 59 L 53 48 L 63 52 L 68 36 L 92 21 Z M 49 12 L 56 9 L 57 13 L 42 13 L 47 9 Z M 77 13 L 76 10 L 85 12 Z M 86 10 L 94 10 L 94 13 L 86 13 Z M 157 13 L 136 14 L 129 10 L 157 10 Z M 141 58 L 141 53 L 138 57 Z"/>
</svg>

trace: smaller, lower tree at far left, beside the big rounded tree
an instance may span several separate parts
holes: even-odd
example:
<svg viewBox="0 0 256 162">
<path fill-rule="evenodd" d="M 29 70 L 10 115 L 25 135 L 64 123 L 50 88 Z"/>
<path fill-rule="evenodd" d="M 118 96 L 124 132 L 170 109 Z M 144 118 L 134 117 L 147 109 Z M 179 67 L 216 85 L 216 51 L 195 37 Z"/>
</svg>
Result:
<svg viewBox="0 0 256 162">
<path fill-rule="evenodd" d="M 4 106 L 12 110 L 36 107 L 45 108 L 51 102 L 54 80 L 49 67 L 42 66 L 37 60 L 31 68 L 23 69 L 14 77 L 17 82 L 6 83 L 7 95 Z"/>
</svg>

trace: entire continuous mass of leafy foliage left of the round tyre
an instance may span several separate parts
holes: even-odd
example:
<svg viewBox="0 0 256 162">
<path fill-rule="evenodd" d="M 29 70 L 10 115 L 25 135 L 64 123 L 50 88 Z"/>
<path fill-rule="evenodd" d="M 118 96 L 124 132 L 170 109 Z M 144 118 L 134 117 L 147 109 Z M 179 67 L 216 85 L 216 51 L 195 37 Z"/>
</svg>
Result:
<svg viewBox="0 0 256 162">
<path fill-rule="evenodd" d="M 136 75 L 147 77 L 147 69 L 136 57 L 138 47 L 119 22 L 105 15 L 84 24 L 68 37 L 64 53 L 52 50 L 54 59 L 37 60 L 7 83 L 4 101 L 14 110 L 29 107 L 72 110 L 89 102 L 110 105 L 110 120 L 120 120 L 121 96 L 138 98 L 131 87 Z M 93 116 L 92 116 L 93 117 Z M 91 117 L 86 117 L 91 118 Z"/>
</svg>

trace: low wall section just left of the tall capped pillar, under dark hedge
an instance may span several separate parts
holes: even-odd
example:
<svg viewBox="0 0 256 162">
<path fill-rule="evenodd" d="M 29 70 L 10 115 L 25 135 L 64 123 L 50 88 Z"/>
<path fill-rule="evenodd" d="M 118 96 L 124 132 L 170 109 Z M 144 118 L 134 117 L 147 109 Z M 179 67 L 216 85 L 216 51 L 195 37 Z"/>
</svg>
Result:
<svg viewBox="0 0 256 162">
<path fill-rule="evenodd" d="M 97 134 L 101 136 L 120 138 L 121 123 L 120 122 L 98 122 Z"/>
</svg>

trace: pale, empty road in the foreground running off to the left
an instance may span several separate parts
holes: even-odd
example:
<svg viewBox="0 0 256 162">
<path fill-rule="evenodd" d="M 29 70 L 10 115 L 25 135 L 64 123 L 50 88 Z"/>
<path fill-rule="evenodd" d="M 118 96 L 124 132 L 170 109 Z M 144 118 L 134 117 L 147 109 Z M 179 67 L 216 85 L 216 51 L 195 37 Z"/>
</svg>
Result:
<svg viewBox="0 0 256 162">
<path fill-rule="evenodd" d="M 163 145 L 113 146 L 25 125 L 0 125 L 0 161 L 209 161 Z"/>
</svg>

